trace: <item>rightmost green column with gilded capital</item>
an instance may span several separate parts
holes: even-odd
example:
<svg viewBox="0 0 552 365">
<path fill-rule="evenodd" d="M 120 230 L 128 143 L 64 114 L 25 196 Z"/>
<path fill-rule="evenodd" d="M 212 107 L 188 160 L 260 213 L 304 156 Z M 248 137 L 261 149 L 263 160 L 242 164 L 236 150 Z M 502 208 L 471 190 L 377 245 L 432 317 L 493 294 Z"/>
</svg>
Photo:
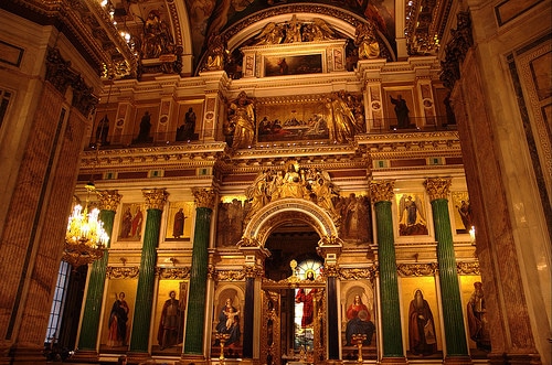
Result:
<svg viewBox="0 0 552 365">
<path fill-rule="evenodd" d="M 424 182 L 432 202 L 435 239 L 437 240 L 437 265 L 439 268 L 443 322 L 446 337 L 446 359 L 469 356 L 464 329 L 450 216 L 448 214 L 447 197 L 450 181 L 452 179 L 436 178 L 427 179 Z M 457 363 L 456 361 L 453 362 Z"/>
</svg>

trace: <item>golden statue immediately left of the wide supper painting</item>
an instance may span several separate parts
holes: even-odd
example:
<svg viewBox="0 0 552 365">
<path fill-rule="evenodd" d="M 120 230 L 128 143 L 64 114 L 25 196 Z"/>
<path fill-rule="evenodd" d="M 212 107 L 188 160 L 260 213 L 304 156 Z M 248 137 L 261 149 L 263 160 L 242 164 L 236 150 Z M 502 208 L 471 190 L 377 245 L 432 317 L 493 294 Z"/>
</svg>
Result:
<svg viewBox="0 0 552 365">
<path fill-rule="evenodd" d="M 230 105 L 230 125 L 234 126 L 232 149 L 248 148 L 255 138 L 255 103 L 245 92 Z"/>
</svg>

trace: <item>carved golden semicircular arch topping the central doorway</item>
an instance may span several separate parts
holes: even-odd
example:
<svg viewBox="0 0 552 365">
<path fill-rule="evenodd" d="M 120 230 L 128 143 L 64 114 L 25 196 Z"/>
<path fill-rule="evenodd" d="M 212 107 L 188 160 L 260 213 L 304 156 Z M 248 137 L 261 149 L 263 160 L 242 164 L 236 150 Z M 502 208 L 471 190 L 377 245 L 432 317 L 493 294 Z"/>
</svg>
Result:
<svg viewBox="0 0 552 365">
<path fill-rule="evenodd" d="M 320 241 L 339 241 L 336 240 L 339 236 L 338 228 L 330 215 L 315 203 L 301 198 L 282 198 L 258 210 L 247 223 L 242 241 L 264 247 L 276 227 L 293 221 L 309 224 L 320 236 Z"/>
</svg>

